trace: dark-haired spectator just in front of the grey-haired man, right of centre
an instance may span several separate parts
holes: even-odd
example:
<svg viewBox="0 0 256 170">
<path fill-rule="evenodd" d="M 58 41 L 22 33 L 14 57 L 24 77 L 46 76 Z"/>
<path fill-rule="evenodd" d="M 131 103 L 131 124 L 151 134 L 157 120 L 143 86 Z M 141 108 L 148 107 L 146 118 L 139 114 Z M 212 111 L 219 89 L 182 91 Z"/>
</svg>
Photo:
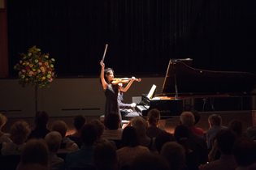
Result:
<svg viewBox="0 0 256 170">
<path fill-rule="evenodd" d="M 176 141 L 180 143 L 182 147 L 184 147 L 186 161 L 185 165 L 188 167 L 189 170 L 196 170 L 198 166 L 201 164 L 200 157 L 197 152 L 191 150 L 188 145 L 188 138 L 191 132 L 189 130 L 188 125 L 178 125 L 174 132 L 174 137 Z"/>
</svg>

